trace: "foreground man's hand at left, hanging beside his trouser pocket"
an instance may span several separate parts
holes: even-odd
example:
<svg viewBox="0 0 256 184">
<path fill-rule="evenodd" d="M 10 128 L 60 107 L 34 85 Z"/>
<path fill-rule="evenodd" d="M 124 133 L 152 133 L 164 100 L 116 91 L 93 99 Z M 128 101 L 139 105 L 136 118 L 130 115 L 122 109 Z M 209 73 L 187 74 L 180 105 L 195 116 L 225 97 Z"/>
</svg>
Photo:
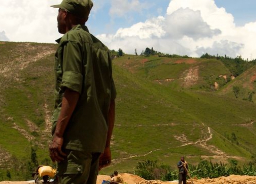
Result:
<svg viewBox="0 0 256 184">
<path fill-rule="evenodd" d="M 53 136 L 52 143 L 49 147 L 50 150 L 50 157 L 52 162 L 60 162 L 65 159 L 67 156 L 65 153 L 62 152 L 61 147 L 63 144 L 63 137 Z"/>
</svg>

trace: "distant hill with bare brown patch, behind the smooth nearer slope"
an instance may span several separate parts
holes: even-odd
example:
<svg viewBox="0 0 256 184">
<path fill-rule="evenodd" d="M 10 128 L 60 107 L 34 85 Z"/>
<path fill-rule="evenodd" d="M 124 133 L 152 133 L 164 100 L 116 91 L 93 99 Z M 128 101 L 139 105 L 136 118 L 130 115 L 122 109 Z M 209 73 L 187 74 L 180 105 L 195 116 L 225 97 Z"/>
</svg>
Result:
<svg viewBox="0 0 256 184">
<path fill-rule="evenodd" d="M 144 79 L 168 85 L 172 89 L 213 91 L 226 84 L 228 68 L 217 59 L 131 57 L 117 64 Z M 218 86 L 215 86 L 218 83 Z"/>
</svg>

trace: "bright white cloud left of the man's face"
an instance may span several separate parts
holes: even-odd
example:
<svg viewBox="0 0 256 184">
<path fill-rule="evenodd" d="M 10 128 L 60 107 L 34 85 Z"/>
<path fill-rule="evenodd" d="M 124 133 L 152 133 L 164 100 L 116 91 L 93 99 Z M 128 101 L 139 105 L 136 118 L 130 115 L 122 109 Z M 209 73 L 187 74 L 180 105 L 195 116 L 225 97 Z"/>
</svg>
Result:
<svg viewBox="0 0 256 184">
<path fill-rule="evenodd" d="M 0 29 L 10 41 L 54 42 L 61 35 L 57 30 L 58 10 L 50 7 L 61 1 L 2 1 Z"/>
</svg>

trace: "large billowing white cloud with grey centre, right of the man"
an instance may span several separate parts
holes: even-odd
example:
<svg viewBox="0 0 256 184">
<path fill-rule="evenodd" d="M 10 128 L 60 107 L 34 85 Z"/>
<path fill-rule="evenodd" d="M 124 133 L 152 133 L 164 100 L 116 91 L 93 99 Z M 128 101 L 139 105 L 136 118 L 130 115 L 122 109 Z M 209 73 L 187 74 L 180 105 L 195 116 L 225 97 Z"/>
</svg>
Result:
<svg viewBox="0 0 256 184">
<path fill-rule="evenodd" d="M 126 1 L 127 2 L 127 1 Z M 148 19 L 116 34 L 100 36 L 111 49 L 138 53 L 146 47 L 156 51 L 200 57 L 241 55 L 256 58 L 252 40 L 256 40 L 256 22 L 236 27 L 234 18 L 214 0 L 171 0 L 165 17 Z"/>
</svg>

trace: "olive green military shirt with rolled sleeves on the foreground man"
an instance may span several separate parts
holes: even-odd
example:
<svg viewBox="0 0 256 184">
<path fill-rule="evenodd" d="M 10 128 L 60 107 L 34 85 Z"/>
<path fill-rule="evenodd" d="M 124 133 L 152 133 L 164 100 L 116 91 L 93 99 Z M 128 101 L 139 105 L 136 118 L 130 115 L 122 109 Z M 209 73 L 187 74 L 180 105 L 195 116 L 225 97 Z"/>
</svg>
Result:
<svg viewBox="0 0 256 184">
<path fill-rule="evenodd" d="M 55 110 L 52 134 L 65 88 L 80 94 L 63 134 L 66 149 L 103 152 L 108 132 L 108 112 L 116 96 L 111 57 L 107 47 L 77 25 L 60 39 L 55 54 Z"/>
</svg>

